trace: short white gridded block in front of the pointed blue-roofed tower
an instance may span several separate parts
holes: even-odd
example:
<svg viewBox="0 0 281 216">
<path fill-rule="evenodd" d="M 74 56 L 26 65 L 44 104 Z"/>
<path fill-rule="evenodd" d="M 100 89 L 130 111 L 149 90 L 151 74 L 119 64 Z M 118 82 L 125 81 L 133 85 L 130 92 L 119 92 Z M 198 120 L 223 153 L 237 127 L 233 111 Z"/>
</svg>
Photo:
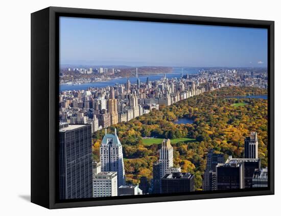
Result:
<svg viewBox="0 0 281 216">
<path fill-rule="evenodd" d="M 117 173 L 100 172 L 92 177 L 93 197 L 118 196 Z"/>
</svg>

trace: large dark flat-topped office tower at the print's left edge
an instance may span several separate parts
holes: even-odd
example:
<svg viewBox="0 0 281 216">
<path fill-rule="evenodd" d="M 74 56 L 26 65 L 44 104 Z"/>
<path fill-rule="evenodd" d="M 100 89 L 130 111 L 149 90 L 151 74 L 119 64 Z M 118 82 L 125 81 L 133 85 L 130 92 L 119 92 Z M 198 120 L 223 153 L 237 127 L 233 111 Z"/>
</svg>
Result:
<svg viewBox="0 0 281 216">
<path fill-rule="evenodd" d="M 91 126 L 60 124 L 59 140 L 60 199 L 91 198 Z"/>
</svg>

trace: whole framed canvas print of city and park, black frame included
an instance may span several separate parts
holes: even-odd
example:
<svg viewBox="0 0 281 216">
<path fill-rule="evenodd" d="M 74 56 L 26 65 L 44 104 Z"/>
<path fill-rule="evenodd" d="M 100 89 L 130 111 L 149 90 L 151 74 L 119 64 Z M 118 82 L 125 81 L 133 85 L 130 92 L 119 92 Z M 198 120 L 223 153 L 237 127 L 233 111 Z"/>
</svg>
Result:
<svg viewBox="0 0 281 216">
<path fill-rule="evenodd" d="M 31 15 L 31 201 L 274 194 L 274 22 Z"/>
</svg>

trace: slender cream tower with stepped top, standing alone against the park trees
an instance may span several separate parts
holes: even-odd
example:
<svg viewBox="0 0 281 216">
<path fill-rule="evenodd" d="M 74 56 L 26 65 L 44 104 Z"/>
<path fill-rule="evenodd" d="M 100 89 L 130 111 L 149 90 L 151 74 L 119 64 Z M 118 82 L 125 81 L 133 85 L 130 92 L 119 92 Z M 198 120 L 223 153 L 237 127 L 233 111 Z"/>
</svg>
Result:
<svg viewBox="0 0 281 216">
<path fill-rule="evenodd" d="M 173 166 L 173 147 L 170 139 L 163 139 L 162 147 L 160 149 L 160 178 L 170 173 L 169 168 Z"/>
</svg>

